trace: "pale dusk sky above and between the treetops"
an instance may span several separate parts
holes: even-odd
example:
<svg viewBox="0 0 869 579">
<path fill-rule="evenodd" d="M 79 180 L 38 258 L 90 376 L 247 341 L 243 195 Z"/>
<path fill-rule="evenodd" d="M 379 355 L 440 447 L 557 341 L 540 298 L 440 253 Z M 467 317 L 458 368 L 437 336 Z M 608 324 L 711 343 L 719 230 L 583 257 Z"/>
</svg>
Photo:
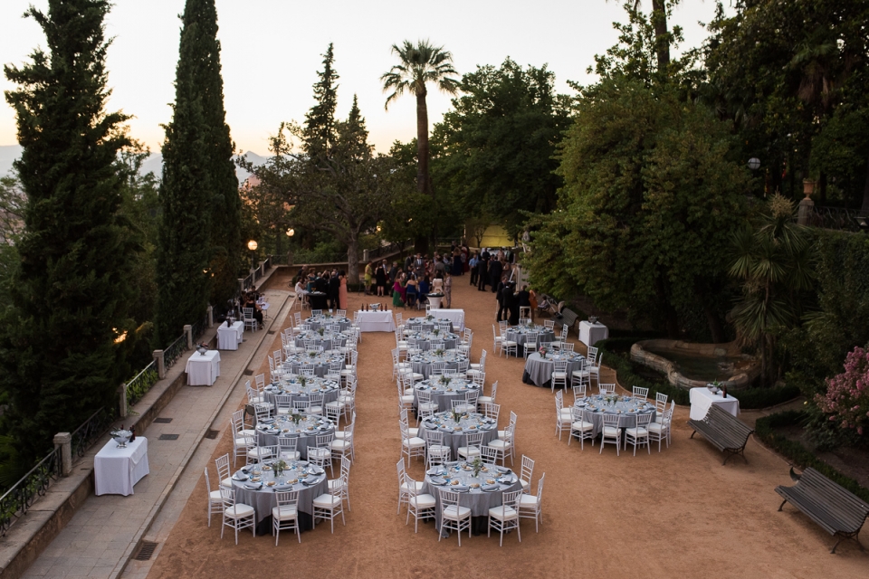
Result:
<svg viewBox="0 0 869 579">
<path fill-rule="evenodd" d="M 2 0 L 0 62 L 21 65 L 44 36 L 28 5 L 47 10 L 46 0 Z M 651 9 L 651 2 L 643 2 Z M 613 21 L 626 22 L 620 4 L 605 0 L 478 2 L 441 0 L 396 5 L 384 0 L 302 3 L 295 0 L 217 0 L 222 44 L 226 119 L 239 150 L 268 153 L 268 137 L 283 120 L 304 119 L 313 104 L 311 85 L 329 43 L 335 44 L 339 80 L 339 117 L 347 116 L 353 94 L 367 120 L 370 140 L 384 152 L 396 140 L 415 137 L 415 100 L 404 96 L 384 110 L 386 95 L 379 77 L 396 62 L 394 43 L 430 39 L 454 55 L 460 74 L 483 64 L 501 64 L 507 56 L 521 65 L 549 64 L 557 89 L 567 82 L 593 81 L 586 73 L 595 53 L 616 43 Z M 709 22 L 712 0 L 683 0 L 672 23 L 684 28 L 683 48 L 699 45 Z M 122 109 L 134 138 L 154 152 L 163 141 L 160 123 L 170 119 L 175 98 L 180 21 L 184 0 L 115 0 L 106 22 L 109 49 L 110 109 Z M 14 86 L 0 79 L 0 89 Z M 432 90 L 429 120 L 439 121 L 450 98 Z M 0 105 L 0 145 L 14 145 L 14 111 Z"/>
</svg>

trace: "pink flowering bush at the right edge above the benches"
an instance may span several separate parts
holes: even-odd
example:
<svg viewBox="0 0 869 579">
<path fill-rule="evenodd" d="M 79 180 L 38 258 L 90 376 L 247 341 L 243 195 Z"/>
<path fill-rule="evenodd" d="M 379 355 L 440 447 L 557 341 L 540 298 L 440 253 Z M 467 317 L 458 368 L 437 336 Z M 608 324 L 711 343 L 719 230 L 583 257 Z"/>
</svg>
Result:
<svg viewBox="0 0 869 579">
<path fill-rule="evenodd" d="M 863 436 L 869 426 L 869 352 L 855 347 L 845 358 L 845 372 L 826 379 L 826 395 L 817 394 L 815 402 L 843 429 L 854 429 Z"/>
</svg>

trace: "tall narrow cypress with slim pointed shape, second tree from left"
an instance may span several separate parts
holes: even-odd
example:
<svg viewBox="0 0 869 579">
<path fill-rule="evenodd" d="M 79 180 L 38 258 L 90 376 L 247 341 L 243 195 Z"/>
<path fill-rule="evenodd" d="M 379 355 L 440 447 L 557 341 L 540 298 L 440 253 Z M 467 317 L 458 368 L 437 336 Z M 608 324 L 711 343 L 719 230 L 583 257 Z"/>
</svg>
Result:
<svg viewBox="0 0 869 579">
<path fill-rule="evenodd" d="M 215 181 L 220 175 L 209 163 L 214 133 L 205 122 L 207 91 L 202 86 L 201 67 L 208 56 L 200 42 L 205 36 L 202 24 L 215 21 L 202 17 L 206 5 L 214 8 L 212 0 L 189 0 L 186 4 L 175 105 L 163 145 L 157 309 L 158 344 L 162 346 L 180 335 L 185 324 L 205 315 L 213 287 L 212 207 L 219 196 L 215 194 Z"/>
</svg>

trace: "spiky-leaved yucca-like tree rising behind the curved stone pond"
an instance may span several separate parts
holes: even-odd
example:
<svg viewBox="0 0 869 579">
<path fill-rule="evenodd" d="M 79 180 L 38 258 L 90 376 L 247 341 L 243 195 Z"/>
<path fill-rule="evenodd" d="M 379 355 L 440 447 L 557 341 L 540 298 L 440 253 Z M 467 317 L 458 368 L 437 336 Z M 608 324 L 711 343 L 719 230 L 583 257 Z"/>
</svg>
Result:
<svg viewBox="0 0 869 579">
<path fill-rule="evenodd" d="M 802 315 L 801 294 L 813 287 L 814 247 L 807 228 L 794 223 L 794 204 L 781 195 L 769 212 L 733 233 L 732 277 L 741 280 L 742 299 L 731 318 L 743 342 L 760 351 L 761 379 L 776 377 L 776 333 L 794 327 Z"/>
</svg>

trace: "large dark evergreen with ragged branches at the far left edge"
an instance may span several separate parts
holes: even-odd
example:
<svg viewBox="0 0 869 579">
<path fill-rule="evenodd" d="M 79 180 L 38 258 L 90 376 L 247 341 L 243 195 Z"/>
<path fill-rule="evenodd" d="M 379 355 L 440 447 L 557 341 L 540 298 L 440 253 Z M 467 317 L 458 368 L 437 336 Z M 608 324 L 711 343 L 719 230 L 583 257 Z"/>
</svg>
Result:
<svg viewBox="0 0 869 579">
<path fill-rule="evenodd" d="M 23 147 L 15 169 L 27 196 L 21 260 L 4 315 L 0 380 L 11 394 L 10 420 L 24 458 L 77 427 L 100 406 L 113 407 L 129 373 L 129 283 L 138 237 L 119 214 L 119 150 L 129 145 L 127 117 L 107 113 L 103 20 L 106 0 L 49 0 L 31 7 L 51 52 L 33 51 L 22 68 L 5 67 L 18 85 L 15 109 Z M 24 433 L 26 433 L 24 435 Z"/>
</svg>

